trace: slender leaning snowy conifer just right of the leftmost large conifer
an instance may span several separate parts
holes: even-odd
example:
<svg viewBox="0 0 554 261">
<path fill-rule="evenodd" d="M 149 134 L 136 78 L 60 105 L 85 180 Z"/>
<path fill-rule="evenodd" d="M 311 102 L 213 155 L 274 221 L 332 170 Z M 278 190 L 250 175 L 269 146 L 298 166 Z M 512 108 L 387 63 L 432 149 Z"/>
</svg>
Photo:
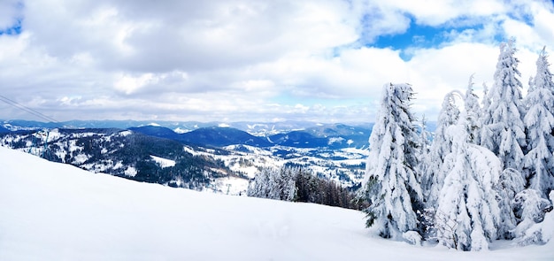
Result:
<svg viewBox="0 0 554 261">
<path fill-rule="evenodd" d="M 427 157 L 427 172 L 423 173 L 421 188 L 423 189 L 427 207 L 435 208 L 436 200 L 441 191 L 444 176 L 442 172 L 442 163 L 444 157 L 451 151 L 452 141 L 446 134 L 448 127 L 456 124 L 459 119 L 460 111 L 456 105 L 455 96 L 461 94 L 453 91 L 444 96 L 442 109 L 439 112 L 439 119 L 436 122 L 435 138 L 431 144 L 429 156 Z"/>
</svg>

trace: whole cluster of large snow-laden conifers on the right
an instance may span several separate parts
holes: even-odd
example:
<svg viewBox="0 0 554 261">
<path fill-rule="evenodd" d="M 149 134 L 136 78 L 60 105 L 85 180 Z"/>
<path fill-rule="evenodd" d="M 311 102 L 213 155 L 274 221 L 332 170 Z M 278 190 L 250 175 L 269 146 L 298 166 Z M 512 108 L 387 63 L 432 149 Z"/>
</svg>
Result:
<svg viewBox="0 0 554 261">
<path fill-rule="evenodd" d="M 367 226 L 415 243 L 417 230 L 461 250 L 489 249 L 496 239 L 545 242 L 542 219 L 554 222 L 545 199 L 554 197 L 554 82 L 543 50 L 524 100 L 513 44 L 500 46 L 494 85 L 483 83 L 482 109 L 473 77 L 465 95 L 445 96 L 429 150 L 424 127 L 413 134 L 412 88 L 384 87 L 362 190 L 370 203 Z"/>
</svg>

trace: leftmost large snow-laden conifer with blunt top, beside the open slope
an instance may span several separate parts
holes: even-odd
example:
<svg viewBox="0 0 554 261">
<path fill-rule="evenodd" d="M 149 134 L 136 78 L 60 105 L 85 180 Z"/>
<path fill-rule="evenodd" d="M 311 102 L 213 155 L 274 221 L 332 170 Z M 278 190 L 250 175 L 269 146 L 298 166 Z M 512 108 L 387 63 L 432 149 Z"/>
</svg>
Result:
<svg viewBox="0 0 554 261">
<path fill-rule="evenodd" d="M 410 112 L 413 91 L 409 84 L 386 84 L 381 109 L 369 137 L 364 196 L 370 206 L 366 225 L 376 226 L 381 237 L 400 239 L 418 229 L 416 211 L 421 189 L 416 179 L 419 139 Z"/>
</svg>

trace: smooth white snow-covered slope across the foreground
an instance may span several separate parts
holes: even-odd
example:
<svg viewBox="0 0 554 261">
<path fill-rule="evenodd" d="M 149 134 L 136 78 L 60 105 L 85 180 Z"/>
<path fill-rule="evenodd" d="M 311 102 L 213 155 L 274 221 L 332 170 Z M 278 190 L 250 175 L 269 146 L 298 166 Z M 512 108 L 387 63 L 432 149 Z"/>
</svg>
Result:
<svg viewBox="0 0 554 261">
<path fill-rule="evenodd" d="M 0 260 L 554 260 L 372 235 L 359 211 L 168 188 L 0 147 Z M 554 227 L 552 227 L 554 229 Z"/>
</svg>

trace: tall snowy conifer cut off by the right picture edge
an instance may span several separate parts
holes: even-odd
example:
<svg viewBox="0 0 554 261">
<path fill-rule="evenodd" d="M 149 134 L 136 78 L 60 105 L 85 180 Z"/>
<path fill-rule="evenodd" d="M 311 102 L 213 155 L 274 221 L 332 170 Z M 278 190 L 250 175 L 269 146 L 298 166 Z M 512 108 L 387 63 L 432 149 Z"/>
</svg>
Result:
<svg viewBox="0 0 554 261">
<path fill-rule="evenodd" d="M 554 82 L 549 70 L 546 50 L 536 61 L 536 76 L 526 97 L 527 154 L 525 173 L 529 188 L 539 191 L 542 197 L 554 189 Z"/>
</svg>

